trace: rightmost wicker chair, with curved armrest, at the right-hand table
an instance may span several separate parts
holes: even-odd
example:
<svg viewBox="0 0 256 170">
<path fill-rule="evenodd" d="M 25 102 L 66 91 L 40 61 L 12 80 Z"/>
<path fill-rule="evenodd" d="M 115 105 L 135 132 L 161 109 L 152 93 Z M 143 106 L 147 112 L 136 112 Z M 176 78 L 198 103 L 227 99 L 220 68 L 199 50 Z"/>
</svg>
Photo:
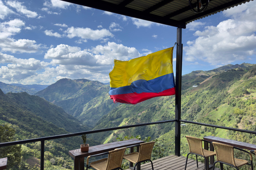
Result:
<svg viewBox="0 0 256 170">
<path fill-rule="evenodd" d="M 216 163 L 220 163 L 221 169 L 223 169 L 223 164 L 230 165 L 238 169 L 238 167 L 243 166 L 243 165 L 251 165 L 251 168 L 253 170 L 253 164 L 252 164 L 252 154 L 250 152 L 247 152 L 246 150 L 233 147 L 230 145 L 226 145 L 223 143 L 218 143 L 218 142 L 212 142 L 213 147 L 216 151 L 216 157 L 217 161 L 214 162 L 213 164 L 213 170 L 214 166 Z M 238 149 L 241 151 L 246 152 L 247 154 L 250 155 L 251 163 L 249 163 L 247 160 L 244 159 L 237 159 L 234 158 L 234 149 Z"/>
</svg>

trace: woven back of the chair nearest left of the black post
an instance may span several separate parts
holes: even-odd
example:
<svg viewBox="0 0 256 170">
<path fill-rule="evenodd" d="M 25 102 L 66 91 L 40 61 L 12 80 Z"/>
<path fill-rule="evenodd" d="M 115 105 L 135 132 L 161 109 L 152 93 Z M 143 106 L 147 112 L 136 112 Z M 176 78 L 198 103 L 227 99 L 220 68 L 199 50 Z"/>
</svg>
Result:
<svg viewBox="0 0 256 170">
<path fill-rule="evenodd" d="M 155 144 L 154 141 L 140 143 L 139 157 L 138 157 L 137 163 L 143 160 L 151 159 L 151 153 L 152 153 L 154 144 Z"/>
</svg>

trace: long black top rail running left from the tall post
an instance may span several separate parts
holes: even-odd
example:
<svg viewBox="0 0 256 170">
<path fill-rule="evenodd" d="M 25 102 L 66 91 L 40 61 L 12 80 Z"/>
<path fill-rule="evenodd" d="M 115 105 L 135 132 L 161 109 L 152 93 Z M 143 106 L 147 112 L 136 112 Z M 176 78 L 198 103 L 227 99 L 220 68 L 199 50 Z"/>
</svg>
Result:
<svg viewBox="0 0 256 170">
<path fill-rule="evenodd" d="M 119 127 L 114 127 L 114 128 L 92 130 L 92 131 L 84 131 L 84 132 L 69 133 L 69 134 L 60 134 L 60 135 L 54 135 L 54 136 L 50 136 L 50 137 L 42 137 L 42 138 L 26 139 L 26 140 L 20 140 L 20 141 L 4 142 L 4 143 L 0 143 L 0 147 L 20 145 L 20 144 L 24 144 L 24 143 L 38 142 L 38 141 L 44 141 L 44 140 L 53 140 L 53 139 L 60 139 L 60 138 L 75 137 L 75 136 L 82 135 L 82 134 L 91 134 L 91 133 L 98 133 L 98 132 L 113 131 L 113 130 L 118 130 L 118 129 L 135 128 L 135 127 L 138 127 L 138 126 L 146 126 L 146 125 L 168 123 L 168 122 L 175 122 L 175 121 L 176 120 L 167 120 L 167 121 L 158 121 L 158 122 L 150 122 L 150 123 L 141 123 L 141 124 L 127 125 L 127 126 L 119 126 Z"/>
</svg>

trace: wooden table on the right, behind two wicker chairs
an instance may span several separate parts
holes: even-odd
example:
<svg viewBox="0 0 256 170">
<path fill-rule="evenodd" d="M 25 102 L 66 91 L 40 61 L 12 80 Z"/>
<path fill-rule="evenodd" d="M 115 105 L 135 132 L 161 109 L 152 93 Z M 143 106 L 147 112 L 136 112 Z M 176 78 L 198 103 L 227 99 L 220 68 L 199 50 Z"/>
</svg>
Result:
<svg viewBox="0 0 256 170">
<path fill-rule="evenodd" d="M 240 142 L 240 141 L 236 141 L 236 140 L 230 140 L 230 139 L 213 137 L 213 136 L 204 137 L 204 140 L 207 140 L 209 142 L 224 143 L 226 145 L 231 145 L 231 146 L 241 148 L 241 149 L 256 150 L 256 145 L 251 144 L 251 143 L 246 143 L 246 142 Z M 209 149 L 208 143 L 206 143 L 206 142 L 204 144 L 204 149 L 206 149 L 206 150 Z M 214 151 L 212 144 L 210 144 L 210 150 Z M 210 164 L 213 165 L 213 163 L 214 163 L 214 156 L 210 157 Z"/>
</svg>

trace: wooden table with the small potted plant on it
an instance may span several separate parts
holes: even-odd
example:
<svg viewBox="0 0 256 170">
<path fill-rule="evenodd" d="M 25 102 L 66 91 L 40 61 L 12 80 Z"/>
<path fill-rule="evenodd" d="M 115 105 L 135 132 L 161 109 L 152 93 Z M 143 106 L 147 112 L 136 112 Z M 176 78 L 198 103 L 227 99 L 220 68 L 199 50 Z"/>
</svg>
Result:
<svg viewBox="0 0 256 170">
<path fill-rule="evenodd" d="M 74 158 L 74 170 L 84 170 L 84 157 L 101 154 L 116 148 L 138 145 L 140 143 L 144 143 L 144 141 L 139 139 L 123 140 L 89 147 L 88 152 L 81 152 L 81 149 L 69 150 L 69 155 Z"/>
</svg>

